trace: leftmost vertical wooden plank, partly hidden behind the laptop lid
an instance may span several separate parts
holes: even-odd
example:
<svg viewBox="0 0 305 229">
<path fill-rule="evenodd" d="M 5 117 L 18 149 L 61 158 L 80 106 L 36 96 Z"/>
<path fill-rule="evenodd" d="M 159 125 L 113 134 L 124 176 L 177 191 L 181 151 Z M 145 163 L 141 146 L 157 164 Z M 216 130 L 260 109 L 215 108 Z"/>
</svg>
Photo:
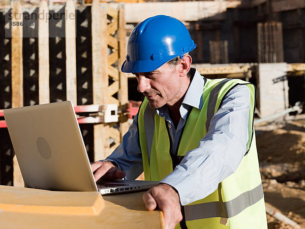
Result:
<svg viewBox="0 0 305 229">
<path fill-rule="evenodd" d="M 13 3 L 12 22 L 12 108 L 23 107 L 23 66 L 22 66 L 22 9 L 19 1 Z M 24 187 L 16 156 L 13 158 L 13 185 Z"/>
</svg>

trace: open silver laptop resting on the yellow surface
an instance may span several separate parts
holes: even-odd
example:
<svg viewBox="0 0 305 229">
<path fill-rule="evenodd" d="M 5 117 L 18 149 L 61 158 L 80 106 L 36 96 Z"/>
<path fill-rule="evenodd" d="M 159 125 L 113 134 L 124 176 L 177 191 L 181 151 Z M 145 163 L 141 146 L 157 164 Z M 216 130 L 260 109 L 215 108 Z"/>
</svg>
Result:
<svg viewBox="0 0 305 229">
<path fill-rule="evenodd" d="M 4 117 L 28 188 L 113 194 L 158 183 L 103 180 L 97 185 L 70 101 L 6 109 Z"/>
</svg>

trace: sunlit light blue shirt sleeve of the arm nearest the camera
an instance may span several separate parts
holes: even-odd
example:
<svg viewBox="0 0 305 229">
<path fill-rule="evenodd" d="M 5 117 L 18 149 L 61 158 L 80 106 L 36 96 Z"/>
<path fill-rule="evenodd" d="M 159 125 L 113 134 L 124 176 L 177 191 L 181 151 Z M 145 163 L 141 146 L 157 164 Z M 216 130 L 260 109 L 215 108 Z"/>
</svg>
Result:
<svg viewBox="0 0 305 229">
<path fill-rule="evenodd" d="M 234 173 L 247 151 L 250 90 L 234 87 L 210 121 L 208 133 L 161 182 L 174 187 L 181 205 L 207 197 Z"/>
</svg>

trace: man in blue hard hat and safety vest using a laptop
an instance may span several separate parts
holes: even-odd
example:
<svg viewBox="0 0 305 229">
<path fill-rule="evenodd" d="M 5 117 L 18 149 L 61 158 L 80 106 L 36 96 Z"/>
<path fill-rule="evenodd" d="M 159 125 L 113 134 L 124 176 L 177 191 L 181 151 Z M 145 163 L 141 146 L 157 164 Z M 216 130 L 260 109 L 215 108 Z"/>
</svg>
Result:
<svg viewBox="0 0 305 229">
<path fill-rule="evenodd" d="M 254 86 L 203 78 L 191 68 L 195 47 L 175 18 L 158 15 L 135 27 L 121 70 L 137 77 L 145 99 L 123 143 L 92 164 L 95 179 L 144 171 L 160 181 L 143 201 L 163 211 L 166 228 L 266 228 Z"/>
</svg>

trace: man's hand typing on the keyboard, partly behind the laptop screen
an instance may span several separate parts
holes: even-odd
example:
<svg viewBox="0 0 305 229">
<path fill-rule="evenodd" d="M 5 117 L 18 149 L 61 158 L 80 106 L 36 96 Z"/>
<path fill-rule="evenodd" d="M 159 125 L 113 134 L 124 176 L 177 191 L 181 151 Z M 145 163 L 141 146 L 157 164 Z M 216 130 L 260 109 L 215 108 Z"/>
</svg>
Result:
<svg viewBox="0 0 305 229">
<path fill-rule="evenodd" d="M 126 173 L 119 170 L 117 166 L 111 161 L 96 161 L 91 164 L 92 171 L 94 172 L 95 181 L 99 180 L 101 177 L 105 177 L 110 180 L 122 179 L 125 177 Z"/>
</svg>

